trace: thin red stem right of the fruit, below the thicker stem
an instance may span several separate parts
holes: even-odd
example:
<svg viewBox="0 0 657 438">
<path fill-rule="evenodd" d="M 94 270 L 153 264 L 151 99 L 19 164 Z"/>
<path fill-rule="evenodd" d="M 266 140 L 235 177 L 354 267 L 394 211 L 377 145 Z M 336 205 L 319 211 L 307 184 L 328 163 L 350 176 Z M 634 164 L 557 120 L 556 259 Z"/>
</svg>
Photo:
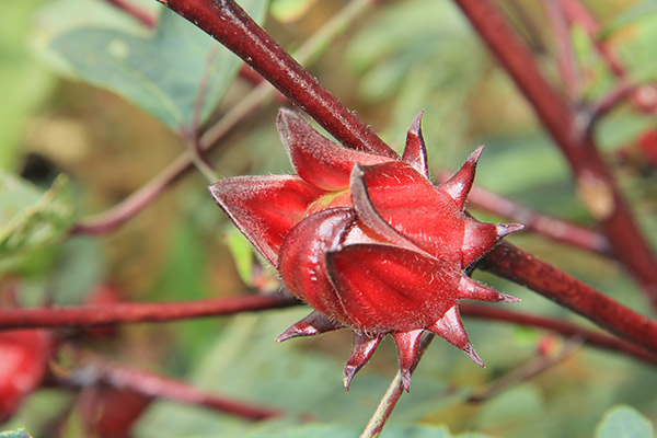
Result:
<svg viewBox="0 0 657 438">
<path fill-rule="evenodd" d="M 504 321 L 517 325 L 529 327 L 545 328 L 550 332 L 558 333 L 564 337 L 577 337 L 584 343 L 608 349 L 610 351 L 620 351 L 641 359 L 650 365 L 657 365 L 657 356 L 647 354 L 644 349 L 632 344 L 623 342 L 602 333 L 583 328 L 578 325 L 554 320 L 551 318 L 528 315 L 526 313 L 504 310 L 494 306 L 481 306 L 471 303 L 459 304 L 459 311 L 463 316 L 480 318 L 483 320 Z"/>
</svg>

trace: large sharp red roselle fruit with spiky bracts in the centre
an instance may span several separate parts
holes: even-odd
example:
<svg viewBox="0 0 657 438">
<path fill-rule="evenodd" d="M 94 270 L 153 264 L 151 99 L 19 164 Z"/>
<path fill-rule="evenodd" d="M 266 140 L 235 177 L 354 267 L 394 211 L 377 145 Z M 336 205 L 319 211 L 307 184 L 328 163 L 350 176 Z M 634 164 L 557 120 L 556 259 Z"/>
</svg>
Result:
<svg viewBox="0 0 657 438">
<path fill-rule="evenodd" d="M 459 316 L 459 300 L 517 301 L 465 269 L 520 224 L 479 222 L 463 212 L 479 148 L 446 183 L 429 181 L 419 113 L 403 157 L 345 148 L 281 110 L 278 130 L 297 175 L 238 176 L 210 192 L 290 291 L 314 308 L 277 341 L 354 331 L 348 390 L 387 334 L 404 388 L 429 331 L 483 366 Z"/>
</svg>

